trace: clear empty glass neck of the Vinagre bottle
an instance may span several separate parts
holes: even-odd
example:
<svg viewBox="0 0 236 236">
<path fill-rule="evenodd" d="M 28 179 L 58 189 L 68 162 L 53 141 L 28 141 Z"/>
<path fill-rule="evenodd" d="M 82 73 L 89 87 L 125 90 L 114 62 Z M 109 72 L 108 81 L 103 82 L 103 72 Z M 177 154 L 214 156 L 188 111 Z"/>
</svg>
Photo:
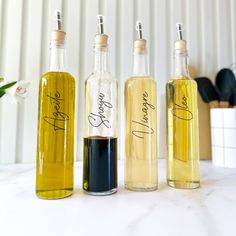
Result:
<svg viewBox="0 0 236 236">
<path fill-rule="evenodd" d="M 146 53 L 134 53 L 133 75 L 148 76 L 149 64 Z"/>
</svg>

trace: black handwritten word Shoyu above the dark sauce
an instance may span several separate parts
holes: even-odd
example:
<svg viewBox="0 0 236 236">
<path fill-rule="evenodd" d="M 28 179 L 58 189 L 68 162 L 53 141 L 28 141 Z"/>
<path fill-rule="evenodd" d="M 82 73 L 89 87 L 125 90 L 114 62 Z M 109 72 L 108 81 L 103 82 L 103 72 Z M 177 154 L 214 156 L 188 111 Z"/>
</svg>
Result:
<svg viewBox="0 0 236 236">
<path fill-rule="evenodd" d="M 105 116 L 105 109 L 111 109 L 113 106 L 110 102 L 105 101 L 105 94 L 99 93 L 98 95 L 98 112 L 90 113 L 88 116 L 88 121 L 93 127 L 100 127 L 104 125 L 106 128 L 111 128 L 110 121 Z"/>
</svg>

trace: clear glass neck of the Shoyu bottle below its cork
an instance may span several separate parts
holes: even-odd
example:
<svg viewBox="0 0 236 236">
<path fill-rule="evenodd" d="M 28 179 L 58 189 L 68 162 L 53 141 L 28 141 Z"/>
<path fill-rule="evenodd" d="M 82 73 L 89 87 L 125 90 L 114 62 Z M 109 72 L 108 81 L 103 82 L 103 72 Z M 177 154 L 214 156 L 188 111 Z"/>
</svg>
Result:
<svg viewBox="0 0 236 236">
<path fill-rule="evenodd" d="M 109 72 L 107 47 L 95 48 L 94 50 L 94 72 Z"/>
</svg>

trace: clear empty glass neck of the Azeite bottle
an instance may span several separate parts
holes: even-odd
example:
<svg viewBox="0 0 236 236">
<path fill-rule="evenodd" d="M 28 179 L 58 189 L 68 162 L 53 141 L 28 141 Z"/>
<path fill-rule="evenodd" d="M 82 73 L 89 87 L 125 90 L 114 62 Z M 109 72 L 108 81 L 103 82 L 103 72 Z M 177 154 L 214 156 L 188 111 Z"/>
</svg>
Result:
<svg viewBox="0 0 236 236">
<path fill-rule="evenodd" d="M 65 72 L 65 48 L 63 46 L 51 46 L 50 71 Z"/>
</svg>

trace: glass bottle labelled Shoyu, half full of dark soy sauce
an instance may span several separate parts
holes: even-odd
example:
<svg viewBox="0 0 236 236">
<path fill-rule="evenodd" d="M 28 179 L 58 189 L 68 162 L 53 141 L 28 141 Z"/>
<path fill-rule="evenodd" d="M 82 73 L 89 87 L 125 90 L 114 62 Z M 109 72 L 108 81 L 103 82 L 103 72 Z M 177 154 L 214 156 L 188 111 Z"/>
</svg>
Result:
<svg viewBox="0 0 236 236">
<path fill-rule="evenodd" d="M 85 82 L 83 189 L 91 195 L 117 190 L 117 80 L 108 68 L 108 36 L 98 16 L 94 71 Z"/>
</svg>

